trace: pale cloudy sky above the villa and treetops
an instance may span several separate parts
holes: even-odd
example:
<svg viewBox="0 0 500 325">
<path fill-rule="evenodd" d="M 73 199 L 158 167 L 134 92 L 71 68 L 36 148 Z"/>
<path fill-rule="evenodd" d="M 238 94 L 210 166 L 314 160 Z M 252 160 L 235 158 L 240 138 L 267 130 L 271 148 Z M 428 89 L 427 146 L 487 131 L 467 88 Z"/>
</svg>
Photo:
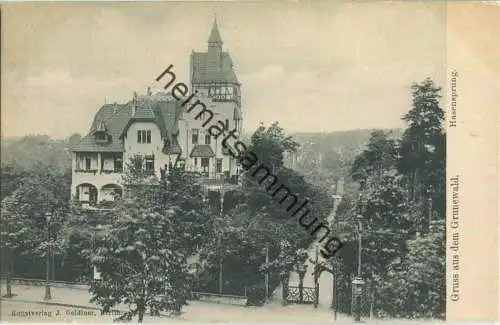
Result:
<svg viewBox="0 0 500 325">
<path fill-rule="evenodd" d="M 104 103 L 170 64 L 189 82 L 214 16 L 242 83 L 244 129 L 404 127 L 410 86 L 446 86 L 446 7 L 416 2 L 9 4 L 2 136 L 86 134 Z M 159 90 L 159 89 L 158 89 Z"/>
</svg>

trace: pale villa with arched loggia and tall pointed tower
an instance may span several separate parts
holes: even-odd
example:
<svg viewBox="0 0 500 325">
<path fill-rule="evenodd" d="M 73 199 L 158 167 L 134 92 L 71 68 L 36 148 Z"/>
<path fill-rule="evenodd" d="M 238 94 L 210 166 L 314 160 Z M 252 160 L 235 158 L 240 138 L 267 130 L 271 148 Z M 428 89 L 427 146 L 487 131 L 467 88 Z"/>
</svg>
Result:
<svg viewBox="0 0 500 325">
<path fill-rule="evenodd" d="M 153 76 L 152 76 L 153 77 Z M 218 120 L 241 133 L 240 83 L 231 56 L 222 51 L 214 21 L 206 52 L 192 52 L 191 91 L 215 112 Z M 84 206 L 112 202 L 123 195 L 123 174 L 132 158 L 151 182 L 174 166 L 198 172 L 210 190 L 238 184 L 240 167 L 170 94 L 134 93 L 125 104 L 107 104 L 96 113 L 89 133 L 72 151 L 71 194 Z"/>
</svg>

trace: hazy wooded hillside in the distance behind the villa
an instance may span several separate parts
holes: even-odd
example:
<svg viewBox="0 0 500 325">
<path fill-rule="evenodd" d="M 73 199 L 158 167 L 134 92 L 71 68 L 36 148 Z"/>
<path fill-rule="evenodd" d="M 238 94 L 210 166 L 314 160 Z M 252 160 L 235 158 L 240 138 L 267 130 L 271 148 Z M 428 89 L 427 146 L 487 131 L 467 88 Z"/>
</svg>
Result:
<svg viewBox="0 0 500 325">
<path fill-rule="evenodd" d="M 292 136 L 300 147 L 296 155 L 287 157 L 286 164 L 303 173 L 308 181 L 330 188 L 337 179 L 348 176 L 352 162 L 363 151 L 372 131 L 294 133 Z M 397 138 L 402 134 L 399 129 L 386 131 L 391 131 Z M 249 137 L 246 135 L 244 138 Z M 2 197 L 15 187 L 17 177 L 12 177 L 14 175 L 35 169 L 65 174 L 71 168 L 67 148 L 79 138 L 75 134 L 66 140 L 52 140 L 47 135 L 2 139 Z"/>
</svg>

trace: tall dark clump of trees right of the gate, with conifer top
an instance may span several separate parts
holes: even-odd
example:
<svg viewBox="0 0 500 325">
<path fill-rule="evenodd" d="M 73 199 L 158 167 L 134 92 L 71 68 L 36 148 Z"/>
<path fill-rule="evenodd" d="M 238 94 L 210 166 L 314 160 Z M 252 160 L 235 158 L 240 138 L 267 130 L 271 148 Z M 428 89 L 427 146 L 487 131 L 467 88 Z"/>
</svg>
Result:
<svg viewBox="0 0 500 325">
<path fill-rule="evenodd" d="M 411 90 L 413 105 L 403 117 L 408 128 L 401 140 L 373 132 L 354 161 L 352 177 L 360 185 L 359 198 L 349 196 L 339 206 L 336 227 L 345 241 L 339 258 L 345 272 L 355 272 L 353 225 L 361 214 L 361 270 L 371 309 L 398 317 L 441 316 L 444 228 L 432 228 L 433 222 L 442 220 L 432 221 L 429 215 L 444 218 L 444 113 L 440 88 L 432 80 L 414 83 Z"/>
</svg>

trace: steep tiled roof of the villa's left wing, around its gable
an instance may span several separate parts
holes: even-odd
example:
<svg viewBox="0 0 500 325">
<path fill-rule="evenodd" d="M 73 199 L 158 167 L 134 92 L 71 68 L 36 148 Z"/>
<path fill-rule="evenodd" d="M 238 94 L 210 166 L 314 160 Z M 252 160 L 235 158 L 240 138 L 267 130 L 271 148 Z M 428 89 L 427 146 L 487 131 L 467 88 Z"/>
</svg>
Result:
<svg viewBox="0 0 500 325">
<path fill-rule="evenodd" d="M 134 105 L 136 109 L 134 110 Z M 134 112 L 135 111 L 135 112 Z M 169 150 L 177 153 L 178 121 L 182 117 L 180 102 L 164 93 L 141 96 L 126 104 L 107 104 L 102 106 L 94 117 L 89 133 L 71 147 L 75 152 L 123 152 L 122 136 L 134 121 L 151 121 L 160 128 L 162 137 L 168 139 Z M 107 142 L 96 142 L 94 132 L 108 134 Z M 178 147 L 178 148 L 177 148 Z"/>
</svg>

